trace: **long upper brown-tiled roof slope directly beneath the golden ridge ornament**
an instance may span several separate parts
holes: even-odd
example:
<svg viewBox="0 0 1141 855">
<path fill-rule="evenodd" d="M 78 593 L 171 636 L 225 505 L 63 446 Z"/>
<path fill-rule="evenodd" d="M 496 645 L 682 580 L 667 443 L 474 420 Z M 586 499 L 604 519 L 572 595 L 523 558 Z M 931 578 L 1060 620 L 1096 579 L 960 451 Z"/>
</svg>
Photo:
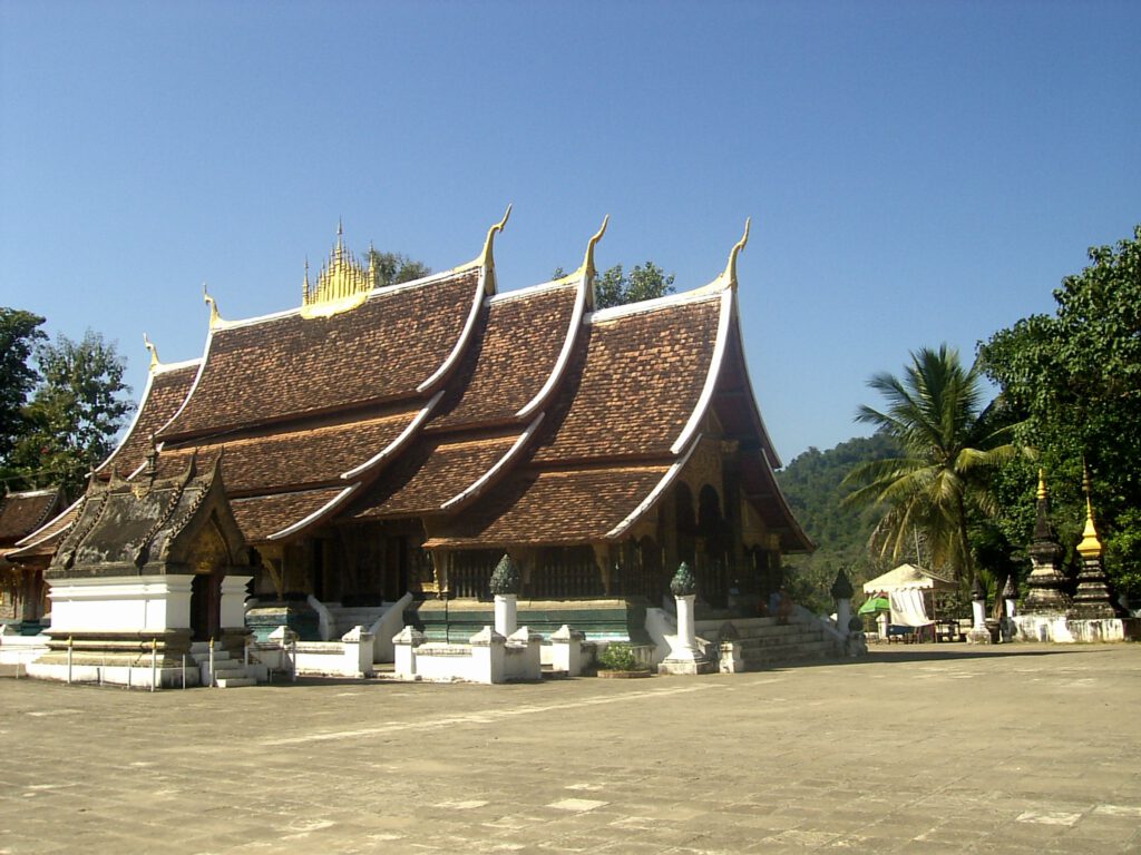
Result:
<svg viewBox="0 0 1141 855">
<path fill-rule="evenodd" d="M 375 292 L 327 318 L 298 312 L 222 326 L 186 407 L 163 438 L 415 397 L 460 340 L 478 269 Z"/>
</svg>

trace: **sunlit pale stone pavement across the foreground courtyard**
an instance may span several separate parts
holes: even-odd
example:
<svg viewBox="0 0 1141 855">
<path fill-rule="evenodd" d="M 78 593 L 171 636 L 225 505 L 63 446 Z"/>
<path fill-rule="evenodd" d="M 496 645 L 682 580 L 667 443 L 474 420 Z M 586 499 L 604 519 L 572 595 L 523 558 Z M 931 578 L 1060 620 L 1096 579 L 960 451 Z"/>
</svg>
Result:
<svg viewBox="0 0 1141 855">
<path fill-rule="evenodd" d="M 541 685 L 0 679 L 0 853 L 1141 852 L 1141 645 Z"/>
</svg>

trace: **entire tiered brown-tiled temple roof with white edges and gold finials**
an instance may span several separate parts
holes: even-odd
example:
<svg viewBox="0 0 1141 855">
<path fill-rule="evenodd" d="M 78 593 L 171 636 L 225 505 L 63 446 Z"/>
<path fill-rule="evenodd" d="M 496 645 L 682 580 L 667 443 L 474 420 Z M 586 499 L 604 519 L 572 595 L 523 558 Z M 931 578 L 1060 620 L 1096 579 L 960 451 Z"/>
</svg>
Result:
<svg viewBox="0 0 1141 855">
<path fill-rule="evenodd" d="M 739 449 L 744 495 L 780 548 L 811 548 L 745 368 L 745 239 L 710 285 L 596 311 L 602 233 L 575 274 L 497 294 L 505 221 L 475 261 L 415 282 L 377 287 L 339 234 L 299 309 L 227 321 L 208 298 L 202 358 L 153 359 L 136 421 L 96 475 L 218 462 L 251 544 L 399 518 L 422 520 L 429 547 L 584 544 L 622 537 L 715 434 Z"/>
</svg>

